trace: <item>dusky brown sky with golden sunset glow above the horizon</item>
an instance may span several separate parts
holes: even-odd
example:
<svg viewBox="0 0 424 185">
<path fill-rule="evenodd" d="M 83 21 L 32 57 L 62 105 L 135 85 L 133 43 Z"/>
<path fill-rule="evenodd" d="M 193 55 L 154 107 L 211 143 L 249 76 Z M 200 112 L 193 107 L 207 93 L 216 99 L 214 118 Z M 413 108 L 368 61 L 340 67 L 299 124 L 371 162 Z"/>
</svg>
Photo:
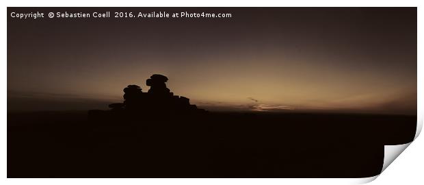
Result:
<svg viewBox="0 0 424 185">
<path fill-rule="evenodd" d="M 29 18 L 11 12 L 224 12 Z M 416 8 L 8 8 L 8 110 L 107 109 L 150 75 L 208 110 L 416 114 Z"/>
</svg>

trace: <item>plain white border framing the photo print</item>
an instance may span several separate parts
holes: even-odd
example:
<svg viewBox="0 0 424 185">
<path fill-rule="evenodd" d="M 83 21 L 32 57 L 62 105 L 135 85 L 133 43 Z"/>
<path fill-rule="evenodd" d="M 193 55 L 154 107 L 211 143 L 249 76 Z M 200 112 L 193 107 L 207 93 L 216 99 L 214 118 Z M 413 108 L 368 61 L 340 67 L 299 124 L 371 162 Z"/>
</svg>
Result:
<svg viewBox="0 0 424 185">
<path fill-rule="evenodd" d="M 81 184 L 81 183 L 90 183 L 90 184 L 358 184 L 358 183 L 365 183 L 369 182 L 375 177 L 365 178 L 365 179 L 5 179 L 6 175 L 6 116 L 7 116 L 7 62 L 6 62 L 6 54 L 7 54 L 7 34 L 6 34 L 6 23 L 7 23 L 7 16 L 6 16 L 6 7 L 7 6 L 26 6 L 26 7 L 54 7 L 54 6 L 75 6 L 75 7 L 82 7 L 82 6 L 90 6 L 90 7 L 103 7 L 103 6 L 111 6 L 111 7 L 125 7 L 125 6 L 157 6 L 157 7 L 163 7 L 163 6 L 176 6 L 176 7 L 197 7 L 197 6 L 216 6 L 216 7 L 225 7 L 225 6 L 286 6 L 286 7 L 297 7 L 297 6 L 317 6 L 317 7 L 334 7 L 334 6 L 355 6 L 355 7 L 363 7 L 363 6 L 413 6 L 418 7 L 418 18 L 419 20 L 423 20 L 423 12 L 420 12 L 421 10 L 421 4 L 422 1 L 393 1 L 393 0 L 356 0 L 356 1 L 328 1 L 328 0 L 304 0 L 304 1 L 228 1 L 228 0 L 215 0 L 215 1 L 207 1 L 207 2 L 200 2 L 200 1 L 144 1 L 144 2 L 138 2 L 138 1 L 110 1 L 110 0 L 103 0 L 103 1 L 82 1 L 82 0 L 74 0 L 74 1 L 34 1 L 34 0 L 26 0 L 26 1 L 2 1 L 3 8 L 0 10 L 1 15 L 3 18 L 1 18 L 1 25 L 3 25 L 3 29 L 1 29 L 1 33 L 3 37 L 1 38 L 1 49 L 3 52 L 3 59 L 1 62 L 0 70 L 1 70 L 1 95 L 3 99 L 1 99 L 1 161 L 0 161 L 0 171 L 1 174 L 3 174 L 3 182 L 6 184 Z M 420 37 L 421 34 L 423 34 L 423 29 L 421 24 L 419 23 L 419 46 L 418 46 L 418 105 L 419 105 L 419 130 L 416 132 L 416 136 L 418 136 L 419 132 L 421 131 L 422 123 L 423 123 L 423 97 L 424 94 L 423 86 L 424 86 L 424 80 L 423 80 L 423 62 L 421 58 L 421 53 L 423 53 L 423 49 L 420 47 L 421 43 L 423 43 L 423 38 Z M 420 83 L 421 82 L 421 83 Z M 420 96 L 421 95 L 421 96 Z M 418 139 L 419 140 L 419 139 Z M 422 140 L 422 139 L 421 139 Z M 415 142 L 415 141 L 414 141 Z M 421 142 L 421 145 L 416 146 L 414 143 L 411 145 L 414 147 L 414 149 L 411 149 L 411 152 L 416 153 L 408 153 L 409 156 L 412 156 L 412 158 L 403 158 L 402 160 L 406 160 L 407 164 L 410 164 L 410 166 L 401 166 L 404 169 L 396 169 L 395 173 L 393 173 L 394 169 L 388 167 L 388 170 L 386 170 L 384 173 L 391 173 L 393 175 L 387 175 L 385 176 L 380 175 L 379 179 L 382 180 L 376 180 L 373 182 L 373 184 L 391 184 L 393 180 L 397 180 L 397 182 L 403 182 L 405 179 L 405 175 L 408 178 L 413 178 L 412 182 L 413 184 L 424 184 L 423 178 L 421 178 L 421 173 L 423 170 L 423 160 L 422 156 L 417 154 L 423 153 L 423 142 Z M 408 151 L 408 149 L 406 149 Z M 415 158 L 413 158 L 415 156 Z M 418 161 L 418 166 L 412 165 L 415 164 L 415 162 Z M 411 163 L 413 162 L 413 163 Z M 394 164 L 397 164 L 398 166 L 401 165 L 399 162 L 395 161 Z M 397 173 L 396 173 L 397 172 Z M 415 174 L 415 176 L 410 176 L 410 174 Z M 399 176 L 401 175 L 401 176 Z M 402 176 L 403 175 L 403 176 Z M 384 179 L 383 179 L 384 177 Z"/>
</svg>

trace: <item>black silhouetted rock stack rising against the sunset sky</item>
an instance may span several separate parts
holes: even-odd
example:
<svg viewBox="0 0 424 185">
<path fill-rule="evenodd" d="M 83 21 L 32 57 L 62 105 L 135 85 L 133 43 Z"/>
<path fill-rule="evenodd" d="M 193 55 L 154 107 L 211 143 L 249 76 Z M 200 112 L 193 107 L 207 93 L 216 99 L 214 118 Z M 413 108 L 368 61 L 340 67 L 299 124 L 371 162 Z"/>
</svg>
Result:
<svg viewBox="0 0 424 185">
<path fill-rule="evenodd" d="M 143 93 L 137 85 L 129 85 L 124 88 L 124 102 L 109 105 L 113 112 L 137 112 L 140 114 L 165 114 L 165 113 L 194 113 L 205 112 L 203 109 L 191 105 L 187 97 L 180 97 L 170 92 L 166 87 L 168 77 L 164 75 L 152 75 L 146 79 L 146 86 L 150 86 L 148 93 Z M 89 114 L 103 112 L 90 110 Z"/>
</svg>

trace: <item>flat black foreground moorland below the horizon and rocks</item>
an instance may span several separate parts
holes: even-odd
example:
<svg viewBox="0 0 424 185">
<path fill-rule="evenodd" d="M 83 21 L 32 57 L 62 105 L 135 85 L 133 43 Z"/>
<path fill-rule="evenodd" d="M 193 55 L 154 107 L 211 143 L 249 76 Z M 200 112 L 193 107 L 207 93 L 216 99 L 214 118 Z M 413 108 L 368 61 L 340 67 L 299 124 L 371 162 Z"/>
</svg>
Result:
<svg viewBox="0 0 424 185">
<path fill-rule="evenodd" d="M 370 177 L 416 116 L 8 114 L 8 177 Z"/>
</svg>

